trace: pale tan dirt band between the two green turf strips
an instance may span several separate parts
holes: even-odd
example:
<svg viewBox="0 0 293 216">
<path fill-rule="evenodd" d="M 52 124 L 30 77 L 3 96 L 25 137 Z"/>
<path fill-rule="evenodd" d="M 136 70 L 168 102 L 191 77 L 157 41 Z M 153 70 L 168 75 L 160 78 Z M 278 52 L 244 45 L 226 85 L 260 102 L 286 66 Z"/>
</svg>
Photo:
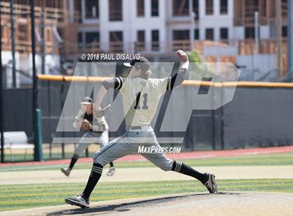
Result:
<svg viewBox="0 0 293 216">
<path fill-rule="evenodd" d="M 241 166 L 241 167 L 194 167 L 202 172 L 212 171 L 218 179 L 257 179 L 257 178 L 293 178 L 292 166 Z M 119 168 L 114 176 L 106 176 L 101 181 L 151 181 L 151 180 L 190 180 L 180 173 L 165 172 L 157 167 Z M 1 185 L 36 184 L 36 183 L 86 183 L 89 169 L 75 169 L 66 177 L 59 170 L 7 171 L 0 175 Z M 131 176 L 131 177 L 130 177 Z"/>
</svg>

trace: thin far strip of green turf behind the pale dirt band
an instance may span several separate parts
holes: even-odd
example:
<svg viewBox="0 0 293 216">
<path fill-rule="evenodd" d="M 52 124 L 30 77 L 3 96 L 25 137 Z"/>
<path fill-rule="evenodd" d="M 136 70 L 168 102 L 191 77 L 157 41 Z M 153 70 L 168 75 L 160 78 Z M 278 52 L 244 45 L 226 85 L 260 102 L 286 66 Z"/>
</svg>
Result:
<svg viewBox="0 0 293 216">
<path fill-rule="evenodd" d="M 269 155 L 248 155 L 241 157 L 216 157 L 181 160 L 192 167 L 210 167 L 210 166 L 271 166 L 271 165 L 293 165 L 293 153 L 280 153 Z M 118 168 L 124 167 L 154 167 L 151 162 L 114 162 Z M 77 161 L 75 169 L 91 169 L 91 163 L 80 164 Z M 37 170 L 37 169 L 60 169 L 63 164 L 57 165 L 31 165 L 29 167 L 13 166 L 1 167 L 0 171 L 20 171 L 20 170 Z"/>
</svg>

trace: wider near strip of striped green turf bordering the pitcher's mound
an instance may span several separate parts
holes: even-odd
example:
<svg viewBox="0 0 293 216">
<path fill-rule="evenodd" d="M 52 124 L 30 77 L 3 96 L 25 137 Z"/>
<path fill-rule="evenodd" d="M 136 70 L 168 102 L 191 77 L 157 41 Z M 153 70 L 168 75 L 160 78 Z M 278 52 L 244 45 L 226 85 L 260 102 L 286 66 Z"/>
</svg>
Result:
<svg viewBox="0 0 293 216">
<path fill-rule="evenodd" d="M 292 179 L 218 180 L 218 185 L 220 192 L 293 192 Z M 84 183 L 2 185 L 0 209 L 6 211 L 63 205 L 65 197 L 76 195 L 83 189 Z M 91 201 L 184 192 L 206 192 L 206 189 L 196 180 L 100 183 L 93 191 Z"/>
</svg>

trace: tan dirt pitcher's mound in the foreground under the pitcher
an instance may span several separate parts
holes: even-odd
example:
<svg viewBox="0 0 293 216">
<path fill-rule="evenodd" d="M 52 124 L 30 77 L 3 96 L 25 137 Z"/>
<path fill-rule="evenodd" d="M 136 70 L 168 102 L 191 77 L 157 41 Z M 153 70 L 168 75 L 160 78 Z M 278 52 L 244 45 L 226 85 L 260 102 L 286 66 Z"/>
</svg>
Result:
<svg viewBox="0 0 293 216">
<path fill-rule="evenodd" d="M 91 208 L 51 206 L 2 212 L 5 215 L 293 215 L 293 194 L 226 192 L 173 194 L 91 203 Z"/>
</svg>

